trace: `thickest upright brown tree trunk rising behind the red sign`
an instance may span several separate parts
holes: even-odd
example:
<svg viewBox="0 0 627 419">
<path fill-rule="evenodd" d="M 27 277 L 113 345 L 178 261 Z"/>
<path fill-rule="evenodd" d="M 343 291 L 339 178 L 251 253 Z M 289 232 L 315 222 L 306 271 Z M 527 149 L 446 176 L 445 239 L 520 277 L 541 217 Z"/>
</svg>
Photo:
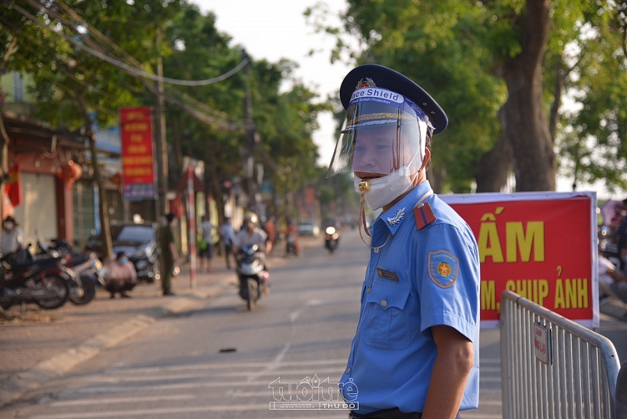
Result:
<svg viewBox="0 0 627 419">
<path fill-rule="evenodd" d="M 548 0 L 527 0 L 522 52 L 503 67 L 509 98 L 504 134 L 516 173 L 516 191 L 555 190 L 557 160 L 542 100 L 542 60 L 551 22 Z"/>
</svg>

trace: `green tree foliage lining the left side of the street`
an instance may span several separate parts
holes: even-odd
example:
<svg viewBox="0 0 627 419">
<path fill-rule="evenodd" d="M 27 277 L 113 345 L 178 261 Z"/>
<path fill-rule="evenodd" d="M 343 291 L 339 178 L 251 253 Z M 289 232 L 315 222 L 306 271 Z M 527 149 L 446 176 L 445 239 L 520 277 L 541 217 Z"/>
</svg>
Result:
<svg viewBox="0 0 627 419">
<path fill-rule="evenodd" d="M 217 77 L 242 61 L 242 46 L 231 45 L 231 37 L 217 31 L 215 15 L 203 14 L 185 0 L 20 4 L 34 20 L 24 10 L 0 3 L 3 66 L 33 75 L 40 119 L 88 134 L 94 121 L 116 125 L 119 107 L 154 105 L 155 82 L 138 73 L 156 73 L 159 56 L 164 76 L 183 80 Z M 15 38 L 17 45 L 10 50 Z M 103 61 L 85 47 L 135 70 Z M 206 86 L 167 85 L 174 183 L 184 155 L 206 162 L 208 192 L 218 200 L 222 182 L 242 176 L 247 91 L 261 139 L 256 161 L 265 164 L 266 178 L 283 192 L 315 178 L 317 150 L 311 135 L 318 112 L 328 107 L 293 77 L 296 66 L 286 60 L 251 59 L 247 74 L 240 71 Z"/>
</svg>

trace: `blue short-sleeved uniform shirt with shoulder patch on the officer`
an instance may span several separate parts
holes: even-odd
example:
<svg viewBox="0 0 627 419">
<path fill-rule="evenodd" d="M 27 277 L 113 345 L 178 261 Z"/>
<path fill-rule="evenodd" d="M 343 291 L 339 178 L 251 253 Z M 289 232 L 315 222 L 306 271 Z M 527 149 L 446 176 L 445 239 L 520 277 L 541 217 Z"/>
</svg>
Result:
<svg viewBox="0 0 627 419">
<path fill-rule="evenodd" d="M 431 191 L 420 183 L 372 224 L 357 333 L 340 387 L 359 413 L 424 410 L 437 346 L 431 326 L 472 341 L 474 366 L 460 410 L 479 404 L 479 252 L 470 227 L 435 195 L 437 220 L 417 229 L 413 208 Z"/>
</svg>

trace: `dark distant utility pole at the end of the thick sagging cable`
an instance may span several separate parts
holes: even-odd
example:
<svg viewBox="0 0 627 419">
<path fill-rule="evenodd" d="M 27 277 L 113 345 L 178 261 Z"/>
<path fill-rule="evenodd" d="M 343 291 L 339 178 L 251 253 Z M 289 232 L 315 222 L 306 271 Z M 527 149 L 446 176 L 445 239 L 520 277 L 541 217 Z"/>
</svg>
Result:
<svg viewBox="0 0 627 419">
<path fill-rule="evenodd" d="M 248 54 L 245 49 L 242 49 L 242 61 L 248 58 Z M 248 206 L 249 208 L 255 208 L 258 211 L 257 207 L 257 185 L 256 179 L 254 176 L 255 165 L 254 165 L 254 156 L 255 156 L 255 144 L 258 141 L 258 136 L 256 134 L 256 130 L 254 128 L 254 122 L 252 119 L 252 98 L 250 92 L 250 83 L 249 83 L 249 68 L 250 61 L 244 66 L 242 69 L 245 75 L 246 80 L 246 97 L 244 98 L 244 125 L 246 132 L 246 149 L 244 153 L 244 183 L 245 183 L 245 191 L 248 195 Z"/>
</svg>

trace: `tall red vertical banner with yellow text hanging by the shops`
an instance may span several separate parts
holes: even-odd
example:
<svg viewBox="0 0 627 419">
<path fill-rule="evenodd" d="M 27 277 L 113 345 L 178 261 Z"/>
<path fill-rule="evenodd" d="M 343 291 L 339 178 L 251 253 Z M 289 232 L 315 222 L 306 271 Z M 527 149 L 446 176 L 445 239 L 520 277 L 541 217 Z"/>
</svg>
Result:
<svg viewBox="0 0 627 419">
<path fill-rule="evenodd" d="M 153 119 L 150 107 L 120 108 L 122 199 L 155 199 Z"/>
</svg>

